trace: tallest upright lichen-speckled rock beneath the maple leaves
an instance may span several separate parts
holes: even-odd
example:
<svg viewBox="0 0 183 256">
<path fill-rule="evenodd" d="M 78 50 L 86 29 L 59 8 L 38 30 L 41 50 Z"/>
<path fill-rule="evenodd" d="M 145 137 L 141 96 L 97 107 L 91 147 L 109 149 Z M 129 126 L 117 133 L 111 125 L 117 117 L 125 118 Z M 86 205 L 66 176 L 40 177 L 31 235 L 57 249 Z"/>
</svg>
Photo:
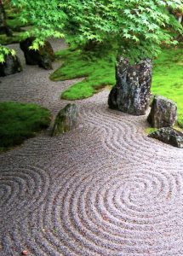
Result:
<svg viewBox="0 0 183 256">
<path fill-rule="evenodd" d="M 131 66 L 128 60 L 120 57 L 116 81 L 108 98 L 109 108 L 134 115 L 145 114 L 151 99 L 152 61 L 145 59 Z"/>
</svg>

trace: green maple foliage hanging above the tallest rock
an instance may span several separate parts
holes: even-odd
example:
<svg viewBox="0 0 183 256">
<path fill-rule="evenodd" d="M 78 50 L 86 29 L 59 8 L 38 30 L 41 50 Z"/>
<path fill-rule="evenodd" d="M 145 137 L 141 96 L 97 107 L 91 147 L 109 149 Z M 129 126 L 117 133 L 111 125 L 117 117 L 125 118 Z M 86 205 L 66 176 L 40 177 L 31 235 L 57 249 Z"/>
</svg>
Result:
<svg viewBox="0 0 183 256">
<path fill-rule="evenodd" d="M 89 40 L 108 46 L 115 42 L 122 55 L 132 61 L 157 55 L 162 44 L 176 44 L 172 32 L 182 26 L 168 8 L 180 9 L 181 0 L 11 0 L 22 9 L 21 20 L 31 20 L 27 36 L 43 39 L 66 36 L 67 41 L 87 44 Z M 110 40 L 109 40 L 110 38 Z"/>
</svg>

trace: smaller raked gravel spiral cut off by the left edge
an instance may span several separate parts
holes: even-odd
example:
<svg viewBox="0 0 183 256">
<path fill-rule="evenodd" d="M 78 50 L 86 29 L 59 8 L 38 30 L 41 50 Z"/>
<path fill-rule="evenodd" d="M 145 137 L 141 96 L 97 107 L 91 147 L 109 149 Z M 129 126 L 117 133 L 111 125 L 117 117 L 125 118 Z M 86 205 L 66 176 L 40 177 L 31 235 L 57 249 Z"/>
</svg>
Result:
<svg viewBox="0 0 183 256">
<path fill-rule="evenodd" d="M 33 209 L 39 206 L 46 197 L 49 180 L 48 174 L 35 166 L 9 166 L 1 170 L 1 222 L 12 217 L 14 212 L 19 213 L 24 207 Z"/>
</svg>

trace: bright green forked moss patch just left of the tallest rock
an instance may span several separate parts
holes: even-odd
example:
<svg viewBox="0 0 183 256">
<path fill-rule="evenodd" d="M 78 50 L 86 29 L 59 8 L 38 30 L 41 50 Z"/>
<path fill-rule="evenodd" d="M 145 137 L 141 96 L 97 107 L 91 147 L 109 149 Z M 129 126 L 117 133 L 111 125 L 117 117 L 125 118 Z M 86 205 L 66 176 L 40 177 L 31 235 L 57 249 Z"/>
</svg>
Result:
<svg viewBox="0 0 183 256">
<path fill-rule="evenodd" d="M 96 56 L 94 53 L 84 53 L 81 50 L 64 49 L 56 53 L 64 64 L 51 74 L 54 81 L 83 78 L 83 81 L 73 84 L 65 90 L 61 98 L 77 100 L 93 96 L 106 85 L 115 83 L 115 54 Z"/>
</svg>

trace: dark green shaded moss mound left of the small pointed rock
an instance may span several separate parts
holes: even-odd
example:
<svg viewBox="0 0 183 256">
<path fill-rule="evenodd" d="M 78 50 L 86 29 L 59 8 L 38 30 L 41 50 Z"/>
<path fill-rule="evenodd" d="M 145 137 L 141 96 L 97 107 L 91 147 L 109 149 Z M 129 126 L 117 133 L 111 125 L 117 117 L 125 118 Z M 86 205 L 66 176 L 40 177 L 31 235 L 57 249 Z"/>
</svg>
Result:
<svg viewBox="0 0 183 256">
<path fill-rule="evenodd" d="M 0 151 L 34 137 L 50 123 L 49 110 L 36 104 L 1 102 L 0 113 Z"/>
</svg>

